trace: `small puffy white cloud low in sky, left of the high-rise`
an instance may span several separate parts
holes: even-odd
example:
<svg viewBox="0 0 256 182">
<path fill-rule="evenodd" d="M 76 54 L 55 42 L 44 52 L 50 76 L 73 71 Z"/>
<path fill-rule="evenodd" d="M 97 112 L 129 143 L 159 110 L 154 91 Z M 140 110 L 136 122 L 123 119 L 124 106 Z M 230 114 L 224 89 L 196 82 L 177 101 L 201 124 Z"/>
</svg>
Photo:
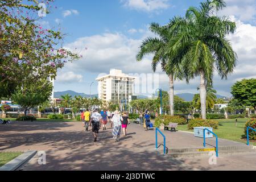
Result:
<svg viewBox="0 0 256 182">
<path fill-rule="evenodd" d="M 76 74 L 72 71 L 69 72 L 62 72 L 59 73 L 59 75 L 56 78 L 56 82 L 61 82 L 61 83 L 73 83 L 73 82 L 82 82 L 83 76 Z"/>
</svg>

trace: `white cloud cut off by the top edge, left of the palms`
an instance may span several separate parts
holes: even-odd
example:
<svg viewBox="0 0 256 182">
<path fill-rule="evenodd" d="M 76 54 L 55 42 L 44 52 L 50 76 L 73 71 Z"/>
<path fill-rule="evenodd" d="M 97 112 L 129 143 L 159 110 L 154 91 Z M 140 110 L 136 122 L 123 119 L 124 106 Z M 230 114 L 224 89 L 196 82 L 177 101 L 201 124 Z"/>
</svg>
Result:
<svg viewBox="0 0 256 182">
<path fill-rule="evenodd" d="M 154 11 L 170 7 L 168 0 L 122 0 L 125 6 L 131 9 Z"/>
</svg>

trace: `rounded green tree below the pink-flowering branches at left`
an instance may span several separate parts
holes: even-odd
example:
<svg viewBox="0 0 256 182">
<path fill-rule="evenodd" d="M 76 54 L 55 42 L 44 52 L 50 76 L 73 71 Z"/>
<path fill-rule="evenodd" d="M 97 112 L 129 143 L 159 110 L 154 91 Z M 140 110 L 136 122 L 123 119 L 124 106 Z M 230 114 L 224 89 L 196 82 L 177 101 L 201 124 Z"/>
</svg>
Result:
<svg viewBox="0 0 256 182">
<path fill-rule="evenodd" d="M 37 107 L 47 100 L 52 94 L 52 84 L 47 80 L 39 80 L 37 82 L 23 84 L 23 88 L 13 94 L 13 101 L 19 104 L 24 109 L 24 114 L 27 111 Z"/>
</svg>

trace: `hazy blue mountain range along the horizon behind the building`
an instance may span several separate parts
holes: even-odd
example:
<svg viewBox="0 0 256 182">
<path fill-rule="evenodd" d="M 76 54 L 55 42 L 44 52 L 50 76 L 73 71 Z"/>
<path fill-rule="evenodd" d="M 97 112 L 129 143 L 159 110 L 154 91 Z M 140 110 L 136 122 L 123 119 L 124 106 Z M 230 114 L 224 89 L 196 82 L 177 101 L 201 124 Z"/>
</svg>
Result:
<svg viewBox="0 0 256 182">
<path fill-rule="evenodd" d="M 98 98 L 98 94 L 92 94 L 92 96 L 90 96 L 90 94 L 85 94 L 85 93 L 78 93 L 75 92 L 73 90 L 67 90 L 67 91 L 63 91 L 63 92 L 55 92 L 54 93 L 54 98 L 61 98 L 61 96 L 64 96 L 65 94 L 69 94 L 70 96 L 74 97 L 74 96 L 82 96 L 82 97 L 97 97 Z M 193 97 L 195 96 L 195 94 L 192 93 L 181 93 L 181 94 L 176 94 L 176 96 L 179 96 L 180 98 L 183 98 L 185 101 L 192 101 Z M 225 96 L 220 96 L 220 95 L 216 95 L 217 98 L 224 98 Z M 147 96 L 143 96 L 143 95 L 138 95 L 138 98 L 148 98 Z"/>
</svg>

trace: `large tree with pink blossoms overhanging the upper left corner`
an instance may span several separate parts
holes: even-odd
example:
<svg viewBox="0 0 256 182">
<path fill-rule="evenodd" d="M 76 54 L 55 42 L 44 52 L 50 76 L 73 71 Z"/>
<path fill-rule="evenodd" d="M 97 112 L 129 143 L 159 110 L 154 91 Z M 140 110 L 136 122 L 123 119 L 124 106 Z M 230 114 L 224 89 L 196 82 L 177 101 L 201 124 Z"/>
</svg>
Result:
<svg viewBox="0 0 256 182">
<path fill-rule="evenodd" d="M 24 81 L 55 78 L 57 69 L 80 57 L 60 46 L 64 38 L 60 31 L 38 23 L 39 10 L 35 0 L 0 1 L 0 97 L 11 96 Z"/>
</svg>

